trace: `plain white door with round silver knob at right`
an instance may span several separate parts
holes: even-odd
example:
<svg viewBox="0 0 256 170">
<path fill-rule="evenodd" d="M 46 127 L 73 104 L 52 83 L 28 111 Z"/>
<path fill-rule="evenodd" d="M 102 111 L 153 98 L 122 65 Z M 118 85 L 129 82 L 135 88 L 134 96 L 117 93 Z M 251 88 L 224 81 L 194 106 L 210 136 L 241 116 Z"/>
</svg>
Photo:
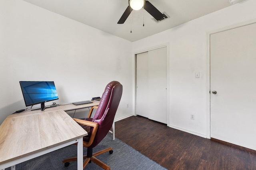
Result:
<svg viewBox="0 0 256 170">
<path fill-rule="evenodd" d="M 254 150 L 255 30 L 254 23 L 210 35 L 211 137 Z"/>
</svg>

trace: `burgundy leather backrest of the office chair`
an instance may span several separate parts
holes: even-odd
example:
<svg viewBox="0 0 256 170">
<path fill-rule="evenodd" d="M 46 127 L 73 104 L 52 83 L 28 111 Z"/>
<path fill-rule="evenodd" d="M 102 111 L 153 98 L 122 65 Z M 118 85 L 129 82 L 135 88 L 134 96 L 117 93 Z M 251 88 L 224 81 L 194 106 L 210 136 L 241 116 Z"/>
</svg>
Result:
<svg viewBox="0 0 256 170">
<path fill-rule="evenodd" d="M 98 109 L 92 119 L 93 122 L 99 124 L 99 127 L 94 138 L 94 142 L 90 145 L 90 148 L 98 145 L 112 127 L 116 110 L 121 100 L 122 91 L 123 86 L 118 81 L 112 81 L 106 86 Z"/>
</svg>

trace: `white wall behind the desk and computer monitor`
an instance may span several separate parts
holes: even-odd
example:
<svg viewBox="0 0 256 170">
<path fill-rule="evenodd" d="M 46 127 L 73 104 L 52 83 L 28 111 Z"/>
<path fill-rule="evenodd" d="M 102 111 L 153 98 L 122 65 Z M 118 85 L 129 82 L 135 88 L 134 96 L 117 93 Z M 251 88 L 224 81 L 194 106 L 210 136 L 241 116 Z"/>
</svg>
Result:
<svg viewBox="0 0 256 170">
<path fill-rule="evenodd" d="M 0 25 L 0 123 L 26 108 L 21 80 L 54 81 L 58 104 L 101 96 L 117 80 L 124 90 L 116 119 L 132 114 L 130 41 L 22 0 L 0 0 Z"/>
</svg>

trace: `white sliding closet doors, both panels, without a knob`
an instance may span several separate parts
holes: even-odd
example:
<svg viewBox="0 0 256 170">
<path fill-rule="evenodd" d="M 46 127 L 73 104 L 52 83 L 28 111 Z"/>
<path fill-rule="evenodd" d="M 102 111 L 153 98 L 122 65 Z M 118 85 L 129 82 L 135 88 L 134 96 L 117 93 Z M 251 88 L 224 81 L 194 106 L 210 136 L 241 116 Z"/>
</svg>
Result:
<svg viewBox="0 0 256 170">
<path fill-rule="evenodd" d="M 136 114 L 167 124 L 167 48 L 136 58 Z"/>
</svg>

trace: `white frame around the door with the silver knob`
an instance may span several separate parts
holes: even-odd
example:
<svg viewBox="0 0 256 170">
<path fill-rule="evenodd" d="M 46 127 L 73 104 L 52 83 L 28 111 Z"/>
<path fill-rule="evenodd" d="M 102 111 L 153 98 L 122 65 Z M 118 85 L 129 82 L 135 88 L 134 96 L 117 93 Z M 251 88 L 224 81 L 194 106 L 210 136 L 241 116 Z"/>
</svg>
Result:
<svg viewBox="0 0 256 170">
<path fill-rule="evenodd" d="M 224 27 L 221 29 L 217 29 L 214 31 L 210 31 L 207 33 L 207 59 L 206 59 L 206 138 L 211 139 L 211 100 L 210 100 L 210 35 L 214 33 L 219 33 L 222 31 L 227 31 L 230 29 L 235 29 L 238 27 L 243 27 L 246 25 L 254 24 L 256 23 L 256 19 L 250 20 L 250 21 L 245 21 L 242 23 L 237 23 L 235 25 L 230 25 L 228 27 Z"/>
</svg>

